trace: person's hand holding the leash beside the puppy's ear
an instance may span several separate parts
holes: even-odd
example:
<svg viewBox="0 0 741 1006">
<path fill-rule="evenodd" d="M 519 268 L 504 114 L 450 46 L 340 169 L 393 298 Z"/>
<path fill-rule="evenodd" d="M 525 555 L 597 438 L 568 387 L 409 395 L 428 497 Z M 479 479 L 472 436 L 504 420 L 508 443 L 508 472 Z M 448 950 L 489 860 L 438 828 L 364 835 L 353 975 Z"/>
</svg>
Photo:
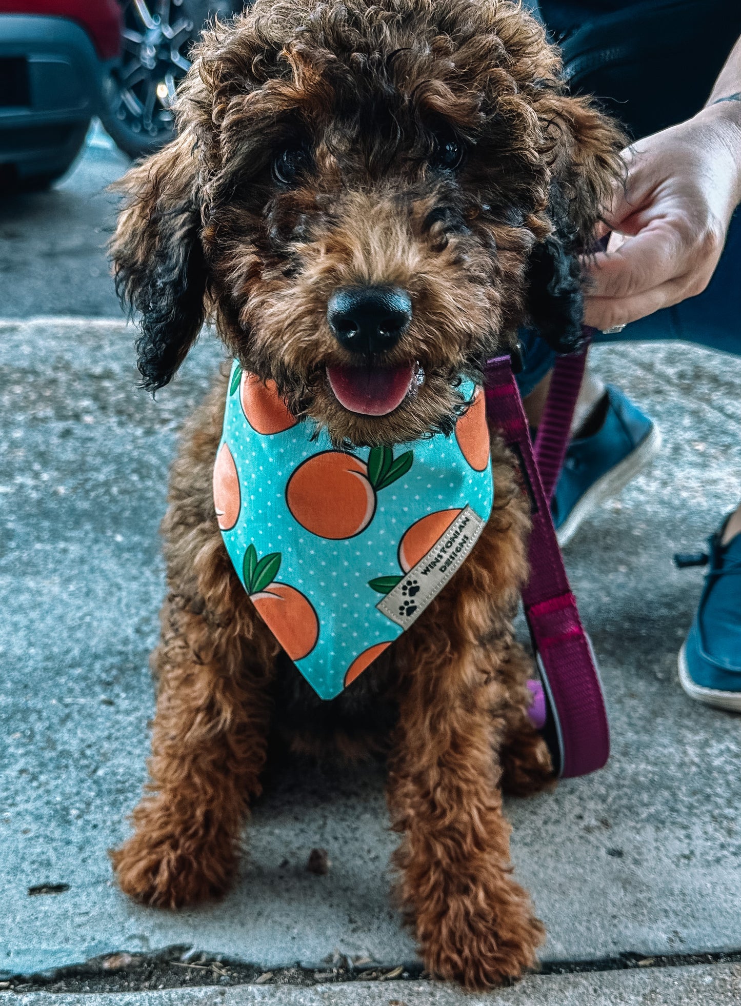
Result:
<svg viewBox="0 0 741 1006">
<path fill-rule="evenodd" d="M 735 103 L 736 105 L 738 103 Z M 607 253 L 585 257 L 584 321 L 598 329 L 636 321 L 702 293 L 741 201 L 737 108 L 711 105 L 625 151 L 602 234 Z"/>
</svg>

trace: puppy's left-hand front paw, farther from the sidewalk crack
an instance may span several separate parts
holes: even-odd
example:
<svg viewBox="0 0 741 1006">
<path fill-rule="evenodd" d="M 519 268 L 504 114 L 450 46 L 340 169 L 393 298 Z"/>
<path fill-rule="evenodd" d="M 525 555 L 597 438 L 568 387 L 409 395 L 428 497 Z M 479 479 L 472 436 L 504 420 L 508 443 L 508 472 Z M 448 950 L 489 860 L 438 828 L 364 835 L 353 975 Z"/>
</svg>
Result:
<svg viewBox="0 0 741 1006">
<path fill-rule="evenodd" d="M 218 897 L 237 868 L 235 843 L 227 836 L 194 841 L 192 835 L 142 827 L 110 856 L 122 891 L 162 908 Z"/>
</svg>

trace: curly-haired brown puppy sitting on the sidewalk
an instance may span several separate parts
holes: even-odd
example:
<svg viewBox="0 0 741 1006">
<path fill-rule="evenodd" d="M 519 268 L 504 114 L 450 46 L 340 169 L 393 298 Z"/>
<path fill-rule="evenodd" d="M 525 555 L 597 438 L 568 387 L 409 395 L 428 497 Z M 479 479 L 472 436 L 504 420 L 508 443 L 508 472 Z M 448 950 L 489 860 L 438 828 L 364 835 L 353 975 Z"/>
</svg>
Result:
<svg viewBox="0 0 741 1006">
<path fill-rule="evenodd" d="M 145 386 L 170 380 L 211 316 L 230 353 L 333 443 L 395 445 L 450 434 L 459 375 L 480 381 L 524 321 L 573 343 L 576 254 L 621 139 L 559 68 L 540 25 L 496 0 L 258 0 L 206 31 L 178 138 L 123 182 L 113 256 L 142 315 Z M 410 316 L 358 345 L 328 320 L 346 290 L 401 291 Z M 424 381 L 390 414 L 350 411 L 327 367 L 358 357 L 418 364 Z M 520 975 L 544 931 L 511 877 L 500 787 L 534 792 L 552 770 L 512 639 L 529 516 L 510 457 L 494 438 L 494 509 L 451 582 L 322 703 L 223 544 L 225 395 L 223 376 L 172 471 L 151 783 L 113 854 L 121 887 L 171 907 L 228 887 L 276 723 L 296 749 L 353 758 L 391 721 L 399 893 L 427 968 L 471 988 Z"/>
</svg>

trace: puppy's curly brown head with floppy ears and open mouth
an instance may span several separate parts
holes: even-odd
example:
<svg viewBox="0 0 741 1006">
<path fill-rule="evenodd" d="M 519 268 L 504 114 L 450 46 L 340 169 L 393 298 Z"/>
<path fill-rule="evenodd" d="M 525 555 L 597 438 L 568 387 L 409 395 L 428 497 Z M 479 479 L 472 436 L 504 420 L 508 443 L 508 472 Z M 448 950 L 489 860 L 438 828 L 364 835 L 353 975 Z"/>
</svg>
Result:
<svg viewBox="0 0 741 1006">
<path fill-rule="evenodd" d="M 113 240 L 144 384 L 206 314 L 335 442 L 450 432 L 531 321 L 579 336 L 621 137 L 499 0 L 258 0 L 206 31 Z"/>
</svg>

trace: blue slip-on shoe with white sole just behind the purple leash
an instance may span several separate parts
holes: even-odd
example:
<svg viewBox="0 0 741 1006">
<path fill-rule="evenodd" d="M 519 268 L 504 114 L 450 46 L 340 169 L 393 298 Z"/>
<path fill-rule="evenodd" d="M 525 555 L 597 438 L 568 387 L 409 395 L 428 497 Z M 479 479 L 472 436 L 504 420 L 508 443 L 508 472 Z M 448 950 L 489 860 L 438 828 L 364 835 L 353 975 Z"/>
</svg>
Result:
<svg viewBox="0 0 741 1006">
<path fill-rule="evenodd" d="M 569 444 L 551 501 L 562 547 L 581 522 L 605 500 L 617 496 L 661 447 L 658 427 L 622 391 L 607 384 L 605 399 L 605 415 L 597 433 Z"/>
</svg>

